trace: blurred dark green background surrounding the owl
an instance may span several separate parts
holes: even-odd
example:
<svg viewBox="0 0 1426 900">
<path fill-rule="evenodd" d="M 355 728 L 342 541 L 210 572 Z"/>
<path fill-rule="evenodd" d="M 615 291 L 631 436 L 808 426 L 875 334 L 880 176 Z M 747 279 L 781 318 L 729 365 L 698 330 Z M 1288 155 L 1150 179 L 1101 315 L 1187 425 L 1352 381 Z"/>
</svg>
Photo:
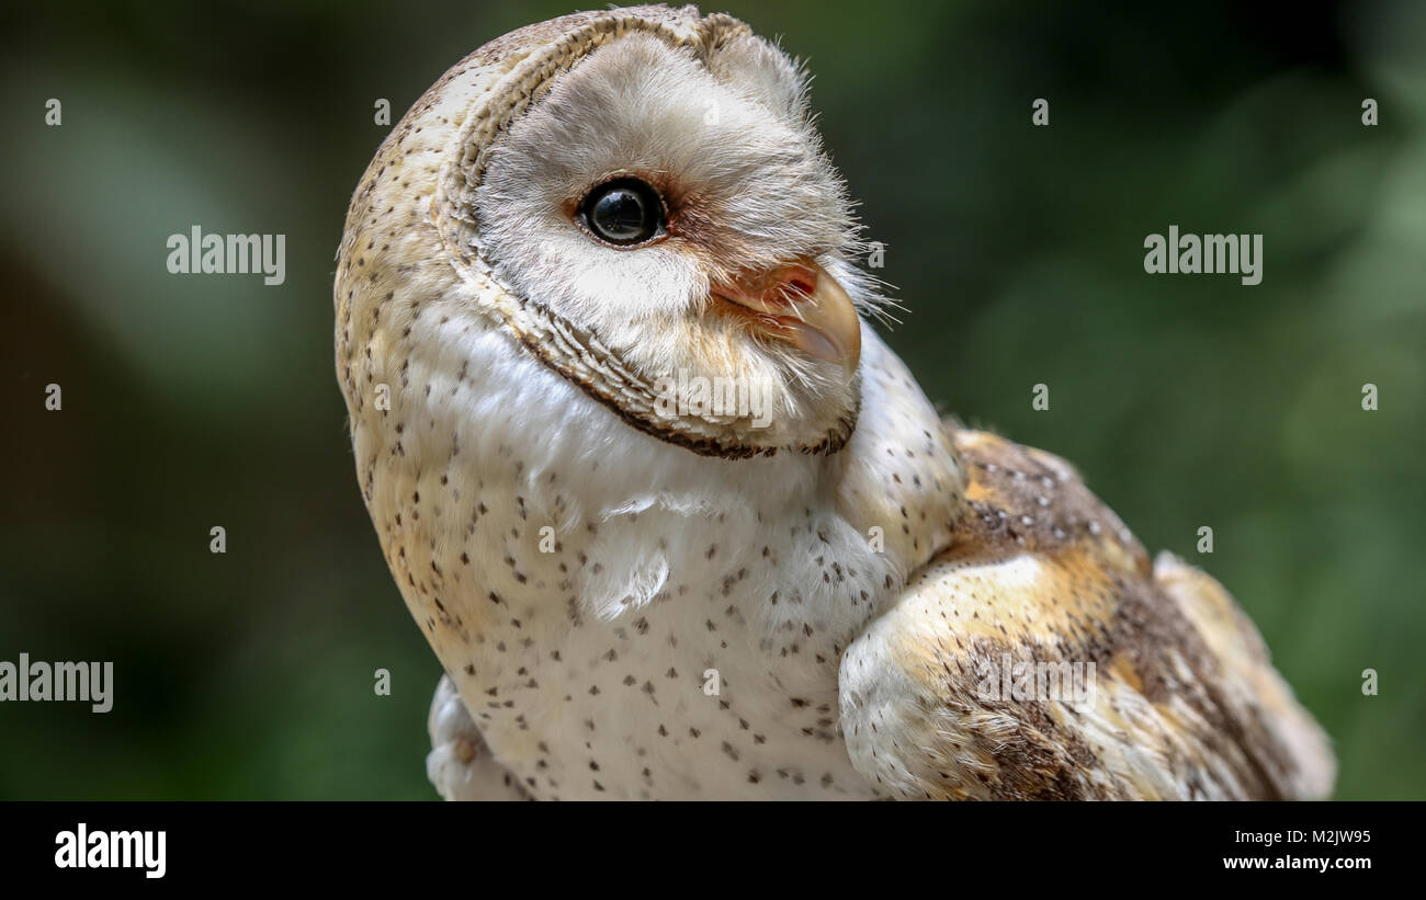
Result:
<svg viewBox="0 0 1426 900">
<path fill-rule="evenodd" d="M 0 705 L 0 797 L 435 796 L 439 665 L 361 506 L 334 253 L 375 100 L 399 120 L 569 3 L 0 13 L 0 659 L 117 682 L 108 715 Z M 1335 738 L 1339 797 L 1426 797 L 1426 4 L 1243 6 L 704 11 L 810 60 L 933 400 L 1216 574 Z M 287 283 L 168 275 L 194 224 L 285 234 Z M 1145 275 L 1171 224 L 1263 234 L 1263 282 Z"/>
</svg>

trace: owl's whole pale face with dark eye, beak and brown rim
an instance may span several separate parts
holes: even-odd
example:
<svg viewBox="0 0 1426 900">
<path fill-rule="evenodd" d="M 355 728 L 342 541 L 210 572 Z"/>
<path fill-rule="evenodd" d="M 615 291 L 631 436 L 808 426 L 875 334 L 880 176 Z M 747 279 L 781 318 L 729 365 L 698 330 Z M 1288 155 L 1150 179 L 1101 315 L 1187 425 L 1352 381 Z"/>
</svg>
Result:
<svg viewBox="0 0 1426 900">
<path fill-rule="evenodd" d="M 642 430 L 716 456 L 831 451 L 877 298 L 803 74 L 739 28 L 630 28 L 538 83 L 466 148 L 462 214 L 489 276 L 560 336 L 526 346 Z"/>
</svg>

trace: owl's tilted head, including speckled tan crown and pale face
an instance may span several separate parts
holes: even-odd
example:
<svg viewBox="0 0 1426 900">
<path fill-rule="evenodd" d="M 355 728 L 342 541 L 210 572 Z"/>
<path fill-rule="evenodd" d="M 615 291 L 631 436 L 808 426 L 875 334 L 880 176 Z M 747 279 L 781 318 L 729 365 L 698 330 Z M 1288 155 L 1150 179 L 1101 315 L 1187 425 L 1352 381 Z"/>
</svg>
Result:
<svg viewBox="0 0 1426 900">
<path fill-rule="evenodd" d="M 857 231 L 774 44 L 694 7 L 579 13 L 482 47 L 392 131 L 348 216 L 338 340 L 381 330 L 379 353 L 438 308 L 446 343 L 502 330 L 659 440 L 833 453 L 880 302 Z"/>
</svg>

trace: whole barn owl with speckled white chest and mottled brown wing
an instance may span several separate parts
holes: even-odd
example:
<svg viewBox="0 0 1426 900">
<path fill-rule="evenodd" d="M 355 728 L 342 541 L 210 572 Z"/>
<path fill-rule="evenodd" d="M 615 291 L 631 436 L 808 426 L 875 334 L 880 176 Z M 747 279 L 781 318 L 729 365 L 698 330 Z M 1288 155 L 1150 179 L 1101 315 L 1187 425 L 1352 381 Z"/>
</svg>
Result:
<svg viewBox="0 0 1426 900">
<path fill-rule="evenodd" d="M 1216 581 L 940 419 L 858 234 L 806 73 L 693 7 L 506 34 L 392 130 L 337 373 L 439 793 L 1325 796 Z"/>
</svg>

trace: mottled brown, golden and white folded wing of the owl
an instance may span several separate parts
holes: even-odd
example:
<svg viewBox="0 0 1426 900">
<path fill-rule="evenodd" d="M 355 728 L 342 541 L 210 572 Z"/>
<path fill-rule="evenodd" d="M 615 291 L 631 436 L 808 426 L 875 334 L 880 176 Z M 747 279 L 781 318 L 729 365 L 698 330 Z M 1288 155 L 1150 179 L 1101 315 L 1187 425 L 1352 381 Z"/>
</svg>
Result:
<svg viewBox="0 0 1426 900">
<path fill-rule="evenodd" d="M 1151 565 L 1064 460 L 953 440 L 970 514 L 841 659 L 858 772 L 898 797 L 1330 792 L 1326 735 L 1214 578 Z"/>
</svg>

